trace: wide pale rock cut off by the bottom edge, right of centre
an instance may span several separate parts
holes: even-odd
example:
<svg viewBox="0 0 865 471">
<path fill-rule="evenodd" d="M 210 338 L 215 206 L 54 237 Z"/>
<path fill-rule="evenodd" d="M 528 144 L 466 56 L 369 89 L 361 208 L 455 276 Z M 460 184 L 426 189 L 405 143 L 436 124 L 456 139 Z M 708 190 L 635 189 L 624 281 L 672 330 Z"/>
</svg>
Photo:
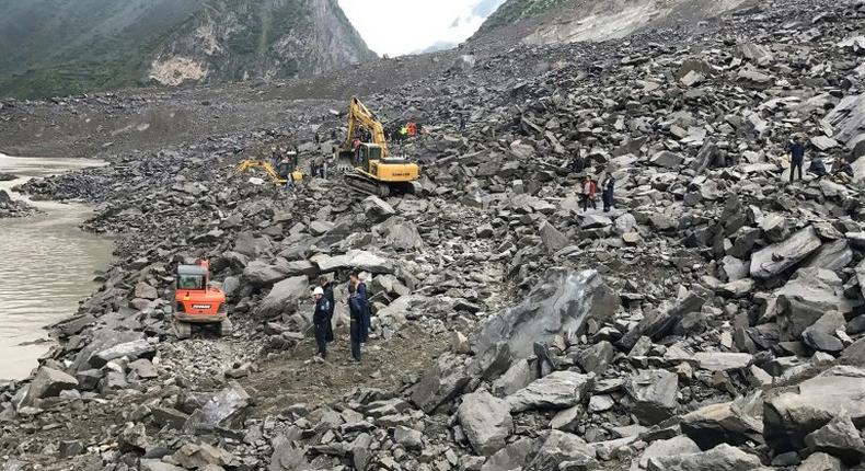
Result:
<svg viewBox="0 0 865 471">
<path fill-rule="evenodd" d="M 760 458 L 727 444 L 699 453 L 656 457 L 648 460 L 649 471 L 748 471 L 763 469 Z"/>
</svg>

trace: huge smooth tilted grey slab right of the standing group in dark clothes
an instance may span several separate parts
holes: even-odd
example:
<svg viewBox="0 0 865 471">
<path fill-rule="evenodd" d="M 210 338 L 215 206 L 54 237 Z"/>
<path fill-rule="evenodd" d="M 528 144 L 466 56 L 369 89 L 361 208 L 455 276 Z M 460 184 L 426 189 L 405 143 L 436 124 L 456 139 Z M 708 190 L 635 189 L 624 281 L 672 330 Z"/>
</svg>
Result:
<svg viewBox="0 0 865 471">
<path fill-rule="evenodd" d="M 602 323 L 612 318 L 618 306 L 618 296 L 598 272 L 553 268 L 522 302 L 480 329 L 472 348 L 482 357 L 504 341 L 511 360 L 528 358 L 534 354 L 535 342 L 583 333 L 590 319 Z"/>
</svg>

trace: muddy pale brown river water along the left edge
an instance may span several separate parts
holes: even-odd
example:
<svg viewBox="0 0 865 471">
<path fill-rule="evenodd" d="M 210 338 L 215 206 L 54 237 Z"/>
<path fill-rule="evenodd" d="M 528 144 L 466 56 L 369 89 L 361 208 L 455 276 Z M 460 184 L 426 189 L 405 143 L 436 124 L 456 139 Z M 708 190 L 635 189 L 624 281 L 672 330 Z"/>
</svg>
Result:
<svg viewBox="0 0 865 471">
<path fill-rule="evenodd" d="M 24 378 L 37 365 L 50 347 L 44 328 L 76 313 L 79 301 L 96 288 L 94 273 L 108 266 L 113 250 L 109 239 L 79 229 L 91 215 L 89 206 L 32 202 L 10 188 L 32 177 L 99 164 L 0 153 L 0 172 L 20 177 L 0 182 L 0 189 L 43 211 L 0 219 L 0 379 Z"/>
</svg>

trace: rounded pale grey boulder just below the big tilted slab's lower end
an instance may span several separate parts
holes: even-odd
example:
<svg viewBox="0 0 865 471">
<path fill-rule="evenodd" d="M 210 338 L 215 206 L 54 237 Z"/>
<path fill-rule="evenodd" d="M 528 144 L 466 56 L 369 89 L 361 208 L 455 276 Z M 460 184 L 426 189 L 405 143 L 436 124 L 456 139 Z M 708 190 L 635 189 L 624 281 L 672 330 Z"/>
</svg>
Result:
<svg viewBox="0 0 865 471">
<path fill-rule="evenodd" d="M 472 448 L 482 456 L 505 447 L 514 429 L 510 405 L 485 391 L 463 395 L 457 417 Z"/>
</svg>

